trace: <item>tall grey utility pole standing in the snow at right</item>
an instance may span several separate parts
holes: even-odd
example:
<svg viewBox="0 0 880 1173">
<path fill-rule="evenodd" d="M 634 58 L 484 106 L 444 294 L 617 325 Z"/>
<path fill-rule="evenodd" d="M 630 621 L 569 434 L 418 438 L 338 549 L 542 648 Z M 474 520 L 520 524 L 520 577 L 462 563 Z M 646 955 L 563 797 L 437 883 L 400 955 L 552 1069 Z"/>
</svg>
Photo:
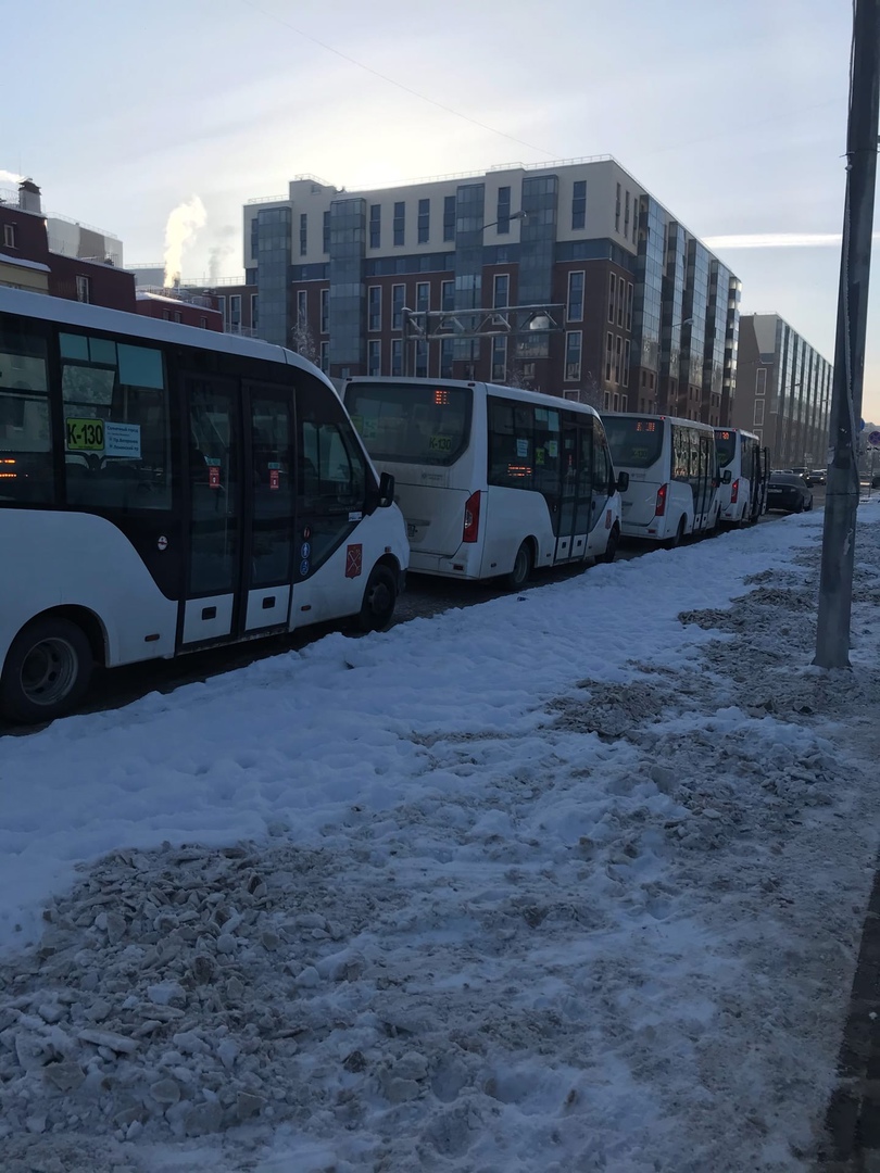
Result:
<svg viewBox="0 0 880 1173">
<path fill-rule="evenodd" d="M 859 509 L 857 427 L 861 418 L 865 373 L 879 95 L 880 0 L 855 0 L 846 135 L 844 248 L 834 345 L 819 625 L 813 660 L 819 667 L 849 667 L 855 515 Z"/>
</svg>

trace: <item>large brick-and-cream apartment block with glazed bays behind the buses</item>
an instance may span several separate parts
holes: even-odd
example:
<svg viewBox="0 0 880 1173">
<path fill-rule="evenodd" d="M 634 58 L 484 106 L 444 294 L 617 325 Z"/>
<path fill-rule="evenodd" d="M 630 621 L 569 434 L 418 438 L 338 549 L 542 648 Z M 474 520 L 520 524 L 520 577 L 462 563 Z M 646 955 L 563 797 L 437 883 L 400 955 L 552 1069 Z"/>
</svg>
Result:
<svg viewBox="0 0 880 1173">
<path fill-rule="evenodd" d="M 739 280 L 610 157 L 360 192 L 299 176 L 245 205 L 244 264 L 260 337 L 336 378 L 730 418 Z"/>
</svg>

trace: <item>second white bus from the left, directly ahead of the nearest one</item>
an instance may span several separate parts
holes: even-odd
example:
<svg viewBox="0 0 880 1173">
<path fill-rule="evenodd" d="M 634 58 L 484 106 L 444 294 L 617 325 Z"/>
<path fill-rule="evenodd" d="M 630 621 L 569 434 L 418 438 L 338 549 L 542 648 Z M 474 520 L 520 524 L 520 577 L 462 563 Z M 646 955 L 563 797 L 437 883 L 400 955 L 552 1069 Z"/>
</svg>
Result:
<svg viewBox="0 0 880 1173">
<path fill-rule="evenodd" d="M 516 590 L 535 568 L 612 561 L 620 494 L 591 407 L 446 379 L 354 378 L 343 398 L 394 475 L 412 570 Z"/>
</svg>

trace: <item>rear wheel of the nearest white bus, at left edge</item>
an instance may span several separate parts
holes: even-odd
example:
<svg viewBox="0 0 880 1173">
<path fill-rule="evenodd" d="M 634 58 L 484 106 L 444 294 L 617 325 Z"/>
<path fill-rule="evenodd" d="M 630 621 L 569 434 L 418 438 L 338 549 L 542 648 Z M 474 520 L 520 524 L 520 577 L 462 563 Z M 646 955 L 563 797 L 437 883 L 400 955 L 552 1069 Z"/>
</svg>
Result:
<svg viewBox="0 0 880 1173">
<path fill-rule="evenodd" d="M 0 679 L 0 712 L 32 725 L 69 713 L 94 667 L 84 632 L 69 619 L 35 619 L 13 639 Z"/>
</svg>

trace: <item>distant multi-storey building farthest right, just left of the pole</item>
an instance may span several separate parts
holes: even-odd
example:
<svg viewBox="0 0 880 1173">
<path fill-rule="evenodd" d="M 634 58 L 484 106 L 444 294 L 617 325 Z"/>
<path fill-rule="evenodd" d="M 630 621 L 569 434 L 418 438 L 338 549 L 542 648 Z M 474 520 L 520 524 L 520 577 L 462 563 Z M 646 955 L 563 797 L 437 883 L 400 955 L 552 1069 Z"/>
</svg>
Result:
<svg viewBox="0 0 880 1173">
<path fill-rule="evenodd" d="M 773 468 L 824 468 L 833 374 L 779 314 L 743 314 L 731 423 L 760 436 Z"/>
</svg>

